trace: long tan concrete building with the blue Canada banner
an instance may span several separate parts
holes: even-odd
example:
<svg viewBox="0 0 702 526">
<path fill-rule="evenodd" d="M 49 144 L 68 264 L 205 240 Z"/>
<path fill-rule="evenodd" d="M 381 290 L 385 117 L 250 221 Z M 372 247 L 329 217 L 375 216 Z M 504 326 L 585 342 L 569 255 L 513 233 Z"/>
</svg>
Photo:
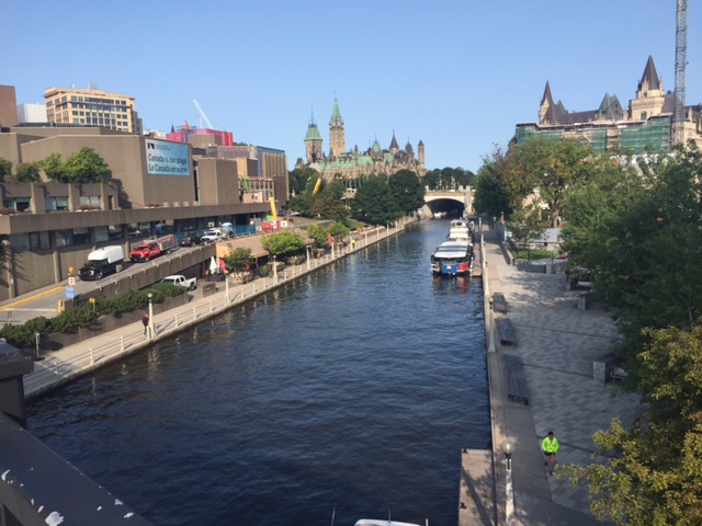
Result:
<svg viewBox="0 0 702 526">
<path fill-rule="evenodd" d="M 95 248 L 122 244 L 128 252 L 156 235 L 178 237 L 263 218 L 270 204 L 244 188 L 239 167 L 249 180 L 265 183 L 281 205 L 287 196 L 282 150 L 251 147 L 254 158 L 224 158 L 190 144 L 106 127 L 13 127 L 0 133 L 0 158 L 15 165 L 52 153 L 66 160 L 84 147 L 107 163 L 104 183 L 54 183 L 42 173 L 42 183 L 0 184 L 0 300 L 66 279 L 68 270 L 82 266 Z M 270 181 L 251 174 L 270 174 Z"/>
</svg>

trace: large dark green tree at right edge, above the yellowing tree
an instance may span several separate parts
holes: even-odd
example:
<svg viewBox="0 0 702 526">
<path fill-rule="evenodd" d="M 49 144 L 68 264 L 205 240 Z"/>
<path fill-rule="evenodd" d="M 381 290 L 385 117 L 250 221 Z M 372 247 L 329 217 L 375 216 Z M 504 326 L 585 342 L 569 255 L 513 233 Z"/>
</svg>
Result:
<svg viewBox="0 0 702 526">
<path fill-rule="evenodd" d="M 689 329 L 702 316 L 701 181 L 697 148 L 648 162 L 622 158 L 565 202 L 564 249 L 595 273 L 625 358 L 646 342 L 645 328 Z"/>
</svg>

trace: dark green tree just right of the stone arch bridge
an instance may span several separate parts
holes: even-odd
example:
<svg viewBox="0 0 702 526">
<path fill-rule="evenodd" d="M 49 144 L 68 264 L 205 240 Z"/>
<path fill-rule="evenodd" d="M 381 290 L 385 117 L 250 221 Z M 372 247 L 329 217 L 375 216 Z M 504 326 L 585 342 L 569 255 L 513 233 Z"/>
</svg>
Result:
<svg viewBox="0 0 702 526">
<path fill-rule="evenodd" d="M 510 196 L 505 185 L 505 174 L 509 171 L 509 161 L 505 152 L 495 146 L 490 157 L 483 158 L 483 164 L 475 180 L 474 207 L 478 214 L 491 217 L 508 216 L 512 213 Z"/>
</svg>

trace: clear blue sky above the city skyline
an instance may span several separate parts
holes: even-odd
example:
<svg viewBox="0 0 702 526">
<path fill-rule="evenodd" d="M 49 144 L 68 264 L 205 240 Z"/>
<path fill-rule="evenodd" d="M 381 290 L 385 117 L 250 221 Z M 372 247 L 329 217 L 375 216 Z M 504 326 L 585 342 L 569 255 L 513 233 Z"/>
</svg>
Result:
<svg viewBox="0 0 702 526">
<path fill-rule="evenodd" d="M 199 126 L 304 157 L 328 151 L 335 93 L 347 149 L 421 139 L 429 169 L 477 171 L 546 81 L 568 111 L 623 106 L 648 56 L 675 90 L 676 0 L 5 1 L 0 84 L 18 103 L 92 82 L 136 98 L 146 129 Z M 702 8 L 689 2 L 687 104 L 702 101 Z M 203 122 L 204 125 L 204 122 Z"/>
</svg>

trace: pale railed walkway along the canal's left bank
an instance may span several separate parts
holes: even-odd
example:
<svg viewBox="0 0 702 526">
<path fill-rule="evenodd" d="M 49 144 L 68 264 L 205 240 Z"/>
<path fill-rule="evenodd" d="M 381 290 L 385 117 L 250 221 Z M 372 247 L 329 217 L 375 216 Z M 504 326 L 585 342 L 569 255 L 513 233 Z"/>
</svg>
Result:
<svg viewBox="0 0 702 526">
<path fill-rule="evenodd" d="M 281 272 L 272 273 L 247 284 L 234 286 L 227 285 L 227 282 L 213 282 L 216 285 L 214 294 L 203 296 L 196 291 L 191 294 L 192 298 L 188 304 L 155 315 L 151 320 L 156 329 L 155 338 L 145 334 L 144 325 L 139 320 L 102 335 L 83 340 L 78 344 L 47 353 L 42 356 L 43 359 L 34 363 L 34 371 L 24 376 L 25 397 L 32 398 L 44 393 L 110 362 L 196 325 L 236 305 L 298 279 L 320 266 L 329 265 L 382 239 L 395 236 L 404 230 L 406 222 L 409 220 L 399 221 L 389 229 L 376 227 L 363 230 L 354 235 L 356 242 L 353 245 L 336 245 L 330 253 L 322 258 L 307 258 L 299 265 L 286 266 Z M 201 282 L 201 285 L 203 284 L 204 282 Z"/>
</svg>

